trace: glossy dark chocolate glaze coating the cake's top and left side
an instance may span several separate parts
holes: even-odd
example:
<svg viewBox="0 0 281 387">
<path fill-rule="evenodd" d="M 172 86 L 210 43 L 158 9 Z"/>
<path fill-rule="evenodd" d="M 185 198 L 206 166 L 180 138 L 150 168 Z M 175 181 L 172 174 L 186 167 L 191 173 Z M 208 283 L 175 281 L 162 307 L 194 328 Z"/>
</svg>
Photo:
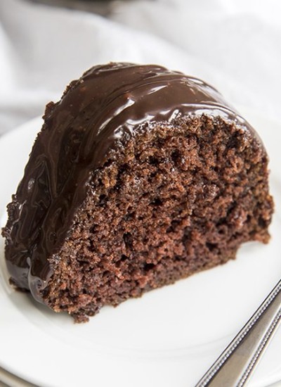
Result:
<svg viewBox="0 0 281 387">
<path fill-rule="evenodd" d="M 91 68 L 46 108 L 4 229 L 12 281 L 37 300 L 89 189 L 91 172 L 110 149 L 150 122 L 183 115 L 222 116 L 255 134 L 221 94 L 194 77 L 158 65 L 110 63 Z M 256 134 L 255 134 L 256 135 Z"/>
</svg>

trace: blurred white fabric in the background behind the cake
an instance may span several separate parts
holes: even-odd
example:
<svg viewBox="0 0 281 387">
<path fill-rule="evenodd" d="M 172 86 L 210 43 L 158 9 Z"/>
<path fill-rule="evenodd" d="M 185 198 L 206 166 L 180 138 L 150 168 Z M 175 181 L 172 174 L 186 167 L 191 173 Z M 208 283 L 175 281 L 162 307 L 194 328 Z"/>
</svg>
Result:
<svg viewBox="0 0 281 387">
<path fill-rule="evenodd" d="M 0 0 L 0 134 L 98 63 L 158 63 L 281 119 L 280 0 L 113 1 L 110 19 Z"/>
</svg>

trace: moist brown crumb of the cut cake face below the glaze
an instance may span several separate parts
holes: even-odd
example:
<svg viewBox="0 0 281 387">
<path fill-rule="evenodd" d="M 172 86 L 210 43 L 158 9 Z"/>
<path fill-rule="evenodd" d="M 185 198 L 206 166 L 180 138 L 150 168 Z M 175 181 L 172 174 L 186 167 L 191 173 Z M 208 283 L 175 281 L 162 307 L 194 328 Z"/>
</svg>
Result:
<svg viewBox="0 0 281 387">
<path fill-rule="evenodd" d="M 93 170 L 41 298 L 77 322 L 268 242 L 266 153 L 239 125 L 190 116 L 154 123 Z"/>
</svg>

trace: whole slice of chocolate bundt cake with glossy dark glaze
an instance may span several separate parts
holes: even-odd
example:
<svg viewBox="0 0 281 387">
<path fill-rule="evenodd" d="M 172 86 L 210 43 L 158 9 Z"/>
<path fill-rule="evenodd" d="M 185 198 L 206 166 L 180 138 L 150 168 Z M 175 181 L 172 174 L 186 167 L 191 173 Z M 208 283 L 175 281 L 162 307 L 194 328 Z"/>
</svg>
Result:
<svg viewBox="0 0 281 387">
<path fill-rule="evenodd" d="M 77 322 L 267 243 L 268 157 L 221 94 L 110 63 L 48 103 L 8 204 L 11 283 Z"/>
</svg>

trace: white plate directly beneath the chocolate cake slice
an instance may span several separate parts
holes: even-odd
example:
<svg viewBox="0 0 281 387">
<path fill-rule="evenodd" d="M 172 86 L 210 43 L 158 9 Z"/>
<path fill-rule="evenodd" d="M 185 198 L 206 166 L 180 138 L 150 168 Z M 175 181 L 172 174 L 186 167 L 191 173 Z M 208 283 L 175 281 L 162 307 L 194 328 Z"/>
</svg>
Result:
<svg viewBox="0 0 281 387">
<path fill-rule="evenodd" d="M 248 243 L 237 260 L 178 281 L 88 324 L 73 324 L 8 285 L 0 257 L 0 367 L 39 386 L 194 386 L 267 296 L 281 274 L 281 126 L 249 110 L 270 154 L 275 215 L 267 246 Z M 0 212 L 15 191 L 39 118 L 0 139 Z M 6 221 L 2 218 L 2 225 Z M 250 386 L 281 379 L 281 330 Z"/>
</svg>

